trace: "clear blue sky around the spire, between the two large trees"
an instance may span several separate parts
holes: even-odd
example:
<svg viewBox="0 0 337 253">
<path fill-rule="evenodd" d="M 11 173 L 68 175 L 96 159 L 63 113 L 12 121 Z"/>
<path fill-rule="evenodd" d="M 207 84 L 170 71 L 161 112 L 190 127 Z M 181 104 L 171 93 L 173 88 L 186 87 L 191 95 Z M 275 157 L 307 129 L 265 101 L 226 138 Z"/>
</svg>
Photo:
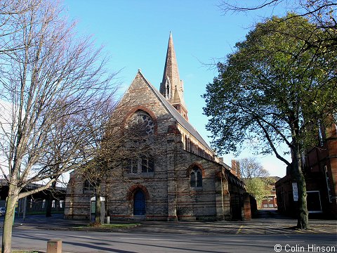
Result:
<svg viewBox="0 0 337 253">
<path fill-rule="evenodd" d="M 211 141 L 203 115 L 206 84 L 216 76 L 213 63 L 234 50 L 254 23 L 270 10 L 255 13 L 224 13 L 220 0 L 65 0 L 70 20 L 77 20 L 79 34 L 91 34 L 97 46 L 105 46 L 111 56 L 109 68 L 121 70 L 118 80 L 125 91 L 141 69 L 145 78 L 159 89 L 164 71 L 169 33 L 178 60 L 180 79 L 185 86 L 190 123 L 207 142 Z M 285 9 L 272 10 L 284 13 Z M 252 156 L 247 148 L 240 157 Z M 258 155 L 272 176 L 284 176 L 285 165 L 273 156 Z M 230 165 L 234 155 L 225 155 Z"/>
</svg>

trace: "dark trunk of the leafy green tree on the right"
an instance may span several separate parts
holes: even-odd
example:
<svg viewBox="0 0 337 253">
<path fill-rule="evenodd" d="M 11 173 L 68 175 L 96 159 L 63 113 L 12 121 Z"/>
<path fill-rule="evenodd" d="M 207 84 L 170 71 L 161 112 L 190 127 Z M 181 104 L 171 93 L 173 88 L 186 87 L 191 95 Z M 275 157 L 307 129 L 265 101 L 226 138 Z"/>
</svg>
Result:
<svg viewBox="0 0 337 253">
<path fill-rule="evenodd" d="M 298 220 L 297 228 L 310 229 L 309 226 L 309 213 L 307 207 L 307 188 L 305 178 L 302 172 L 302 160 L 298 148 L 293 150 L 293 177 L 297 183 L 298 188 Z"/>
</svg>

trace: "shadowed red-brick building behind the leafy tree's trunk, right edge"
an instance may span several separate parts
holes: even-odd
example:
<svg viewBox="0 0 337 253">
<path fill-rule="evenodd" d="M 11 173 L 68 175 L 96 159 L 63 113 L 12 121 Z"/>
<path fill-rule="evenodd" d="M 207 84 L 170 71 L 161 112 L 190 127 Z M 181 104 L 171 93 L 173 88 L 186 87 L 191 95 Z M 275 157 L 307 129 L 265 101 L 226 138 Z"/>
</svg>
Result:
<svg viewBox="0 0 337 253">
<path fill-rule="evenodd" d="M 309 216 L 337 219 L 336 124 L 326 131 L 319 131 L 317 144 L 317 147 L 308 150 L 303 159 Z M 286 176 L 277 181 L 275 186 L 279 212 L 296 215 L 297 185 L 291 177 L 289 168 Z"/>
</svg>

